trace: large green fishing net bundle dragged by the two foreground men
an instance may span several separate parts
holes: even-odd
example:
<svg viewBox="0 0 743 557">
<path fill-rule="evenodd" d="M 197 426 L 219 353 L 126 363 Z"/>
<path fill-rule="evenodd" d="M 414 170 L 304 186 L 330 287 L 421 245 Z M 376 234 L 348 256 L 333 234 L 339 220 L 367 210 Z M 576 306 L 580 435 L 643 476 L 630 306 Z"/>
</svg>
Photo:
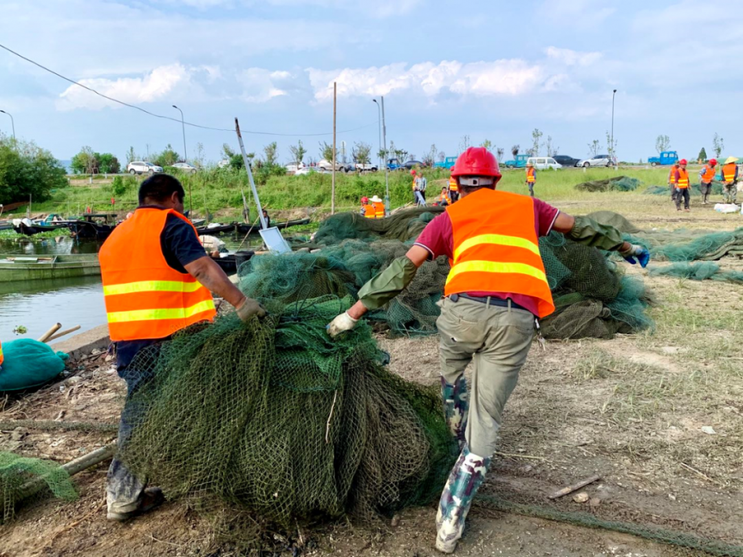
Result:
<svg viewBox="0 0 743 557">
<path fill-rule="evenodd" d="M 350 302 L 274 301 L 262 322 L 230 314 L 141 351 L 122 460 L 169 498 L 285 526 L 431 501 L 455 458 L 438 391 L 383 368 L 369 325 L 329 339 Z"/>
</svg>

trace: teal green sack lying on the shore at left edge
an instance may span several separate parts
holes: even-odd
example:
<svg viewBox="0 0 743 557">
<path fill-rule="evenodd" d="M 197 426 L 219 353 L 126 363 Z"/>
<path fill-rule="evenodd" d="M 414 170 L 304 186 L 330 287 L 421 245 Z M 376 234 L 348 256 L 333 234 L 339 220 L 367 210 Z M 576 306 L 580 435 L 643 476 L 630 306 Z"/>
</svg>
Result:
<svg viewBox="0 0 743 557">
<path fill-rule="evenodd" d="M 3 343 L 4 362 L 0 366 L 0 391 L 18 391 L 36 387 L 53 379 L 65 369 L 70 357 L 54 352 L 48 345 L 33 339 Z"/>
</svg>

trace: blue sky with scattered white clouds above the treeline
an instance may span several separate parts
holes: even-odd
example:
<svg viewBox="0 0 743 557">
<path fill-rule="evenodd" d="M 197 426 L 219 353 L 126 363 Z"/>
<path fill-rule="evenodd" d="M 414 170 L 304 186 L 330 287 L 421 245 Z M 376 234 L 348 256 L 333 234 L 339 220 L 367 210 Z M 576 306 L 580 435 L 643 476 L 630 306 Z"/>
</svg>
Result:
<svg viewBox="0 0 743 557">
<path fill-rule="evenodd" d="M 559 152 L 606 147 L 611 91 L 623 160 L 655 154 L 667 134 L 682 157 L 712 149 L 743 156 L 741 0 L 596 2 L 428 0 L 4 0 L 0 43 L 111 97 L 169 117 L 230 128 L 239 117 L 247 148 L 332 130 L 349 149 L 377 149 L 385 97 L 387 140 L 419 158 L 435 143 L 458 153 L 467 134 L 510 152 L 539 128 Z M 82 146 L 124 158 L 171 143 L 180 123 L 110 102 L 0 50 L 0 108 L 19 137 L 68 159 Z M 0 114 L 0 131 L 10 120 Z M 189 157 L 202 143 L 218 160 L 229 132 L 186 127 Z"/>
</svg>

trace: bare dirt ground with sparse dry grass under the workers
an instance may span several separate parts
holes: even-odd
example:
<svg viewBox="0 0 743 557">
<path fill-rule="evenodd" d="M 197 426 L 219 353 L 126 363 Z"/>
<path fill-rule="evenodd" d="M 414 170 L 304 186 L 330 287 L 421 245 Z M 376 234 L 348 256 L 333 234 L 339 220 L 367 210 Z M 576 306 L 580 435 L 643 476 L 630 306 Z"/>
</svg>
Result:
<svg viewBox="0 0 743 557">
<path fill-rule="evenodd" d="M 606 205 L 605 205 L 606 206 Z M 588 212 L 604 206 L 565 206 Z M 614 209 L 614 207 L 609 207 Z M 627 209 L 627 208 L 625 208 Z M 640 227 L 733 229 L 739 218 L 694 207 L 677 214 L 668 203 L 624 214 Z M 662 211 L 662 212 L 661 212 Z M 724 260 L 743 270 L 743 261 Z M 706 535 L 743 545 L 743 287 L 715 281 L 643 276 L 658 303 L 655 328 L 612 340 L 533 346 L 509 401 L 502 446 L 481 489 L 519 503 L 583 511 L 603 520 Z M 390 368 L 406 380 L 438 384 L 435 337 L 380 338 Z M 125 392 L 99 354 L 71 377 L 26 397 L 0 399 L 3 420 L 115 423 Z M 104 446 L 114 431 L 1 429 L 0 450 L 60 463 Z M 557 502 L 548 495 L 591 475 L 600 480 Z M 0 527 L 0 557 L 230 556 L 210 524 L 178 502 L 127 524 L 106 521 L 106 464 L 75 481 L 80 498 L 22 509 Z M 274 535 L 277 555 L 427 557 L 435 507 L 406 509 L 377 530 L 332 524 Z M 271 555 L 272 553 L 264 553 Z M 641 538 L 474 506 L 457 555 L 703 555 Z M 256 553 L 257 555 L 257 553 Z"/>
</svg>

